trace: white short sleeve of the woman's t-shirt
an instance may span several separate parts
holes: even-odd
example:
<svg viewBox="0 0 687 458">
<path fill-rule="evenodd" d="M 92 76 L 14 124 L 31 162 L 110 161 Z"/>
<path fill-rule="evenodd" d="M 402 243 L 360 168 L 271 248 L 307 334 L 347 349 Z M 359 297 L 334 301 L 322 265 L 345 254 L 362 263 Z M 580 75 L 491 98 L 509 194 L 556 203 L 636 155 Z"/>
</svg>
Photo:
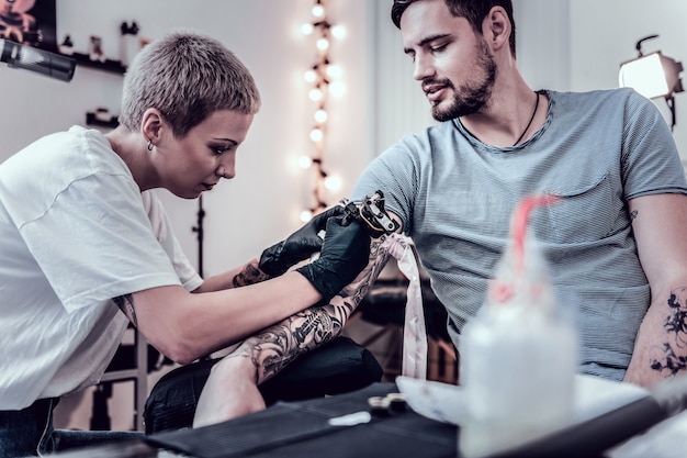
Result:
<svg viewBox="0 0 687 458">
<path fill-rule="evenodd" d="M 151 231 L 140 192 L 124 176 L 75 180 L 43 214 L 19 228 L 68 311 L 180 284 Z"/>
</svg>

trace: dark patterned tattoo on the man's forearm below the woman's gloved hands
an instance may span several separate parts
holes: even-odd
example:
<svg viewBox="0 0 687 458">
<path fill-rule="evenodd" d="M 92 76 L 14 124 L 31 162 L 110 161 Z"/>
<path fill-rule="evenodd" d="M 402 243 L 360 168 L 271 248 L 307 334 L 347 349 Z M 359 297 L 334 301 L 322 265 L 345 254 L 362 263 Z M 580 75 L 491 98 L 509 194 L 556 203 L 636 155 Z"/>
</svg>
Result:
<svg viewBox="0 0 687 458">
<path fill-rule="evenodd" d="M 312 306 L 266 328 L 227 357 L 250 358 L 257 369 L 256 382 L 262 383 L 304 353 L 338 336 L 388 259 L 382 241 L 372 242 L 368 267 L 328 304 Z"/>
</svg>

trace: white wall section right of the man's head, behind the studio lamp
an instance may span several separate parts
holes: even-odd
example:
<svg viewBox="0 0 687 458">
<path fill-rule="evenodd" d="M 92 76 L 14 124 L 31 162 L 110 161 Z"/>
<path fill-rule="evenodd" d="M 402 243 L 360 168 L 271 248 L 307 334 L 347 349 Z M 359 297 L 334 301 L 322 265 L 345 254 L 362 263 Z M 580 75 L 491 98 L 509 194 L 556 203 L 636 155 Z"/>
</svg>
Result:
<svg viewBox="0 0 687 458">
<path fill-rule="evenodd" d="M 687 65 L 687 2 L 685 0 L 515 0 L 518 65 L 533 88 L 586 91 L 618 87 L 620 64 L 661 49 Z M 683 79 L 685 79 L 683 74 Z M 654 103 L 672 122 L 663 99 Z M 687 94 L 676 96 L 674 136 L 687 163 Z"/>
</svg>

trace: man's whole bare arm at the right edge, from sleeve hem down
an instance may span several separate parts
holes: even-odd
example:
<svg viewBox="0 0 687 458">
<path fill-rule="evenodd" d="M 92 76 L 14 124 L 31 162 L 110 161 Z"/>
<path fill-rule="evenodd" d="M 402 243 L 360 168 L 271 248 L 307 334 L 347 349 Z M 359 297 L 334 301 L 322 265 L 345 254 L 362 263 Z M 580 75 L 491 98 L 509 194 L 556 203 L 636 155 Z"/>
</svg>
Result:
<svg viewBox="0 0 687 458">
<path fill-rule="evenodd" d="M 629 205 L 652 299 L 624 381 L 650 388 L 687 369 L 687 196 L 646 196 Z"/>
</svg>

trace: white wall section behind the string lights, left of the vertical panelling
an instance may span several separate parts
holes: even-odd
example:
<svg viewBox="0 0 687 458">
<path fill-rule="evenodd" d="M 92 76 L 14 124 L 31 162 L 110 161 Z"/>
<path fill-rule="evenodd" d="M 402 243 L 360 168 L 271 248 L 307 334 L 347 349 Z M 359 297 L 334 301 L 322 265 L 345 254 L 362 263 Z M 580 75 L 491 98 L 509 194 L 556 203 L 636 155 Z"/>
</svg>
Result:
<svg viewBox="0 0 687 458">
<path fill-rule="evenodd" d="M 76 51 L 87 49 L 91 34 L 103 37 L 110 58 L 119 58 L 119 26 L 136 20 L 139 36 L 155 38 L 188 26 L 209 33 L 232 48 L 251 69 L 263 105 L 239 149 L 237 177 L 206 193 L 205 275 L 216 273 L 260 254 L 295 230 L 299 213 L 313 204 L 314 175 L 295 166 L 313 153 L 308 133 L 314 103 L 307 98 L 303 72 L 316 63 L 314 38 L 301 34 L 309 22 L 313 0 L 59 0 L 57 35 L 70 34 Z M 345 98 L 330 99 L 325 167 L 344 179 L 329 202 L 347 197 L 367 164 L 371 122 L 368 83 L 372 48 L 369 42 L 371 3 L 330 0 L 329 21 L 349 33 L 334 41 L 330 59 L 344 68 Z M 88 20 L 86 20 L 88 18 Z M 78 67 L 71 83 L 0 67 L 5 88 L 0 122 L 0 161 L 34 138 L 72 124 L 85 113 L 106 107 L 119 114 L 121 76 Z M 11 107 L 11 109 L 10 109 Z M 196 202 L 170 194 L 165 203 L 189 257 L 196 259 Z"/>
</svg>

